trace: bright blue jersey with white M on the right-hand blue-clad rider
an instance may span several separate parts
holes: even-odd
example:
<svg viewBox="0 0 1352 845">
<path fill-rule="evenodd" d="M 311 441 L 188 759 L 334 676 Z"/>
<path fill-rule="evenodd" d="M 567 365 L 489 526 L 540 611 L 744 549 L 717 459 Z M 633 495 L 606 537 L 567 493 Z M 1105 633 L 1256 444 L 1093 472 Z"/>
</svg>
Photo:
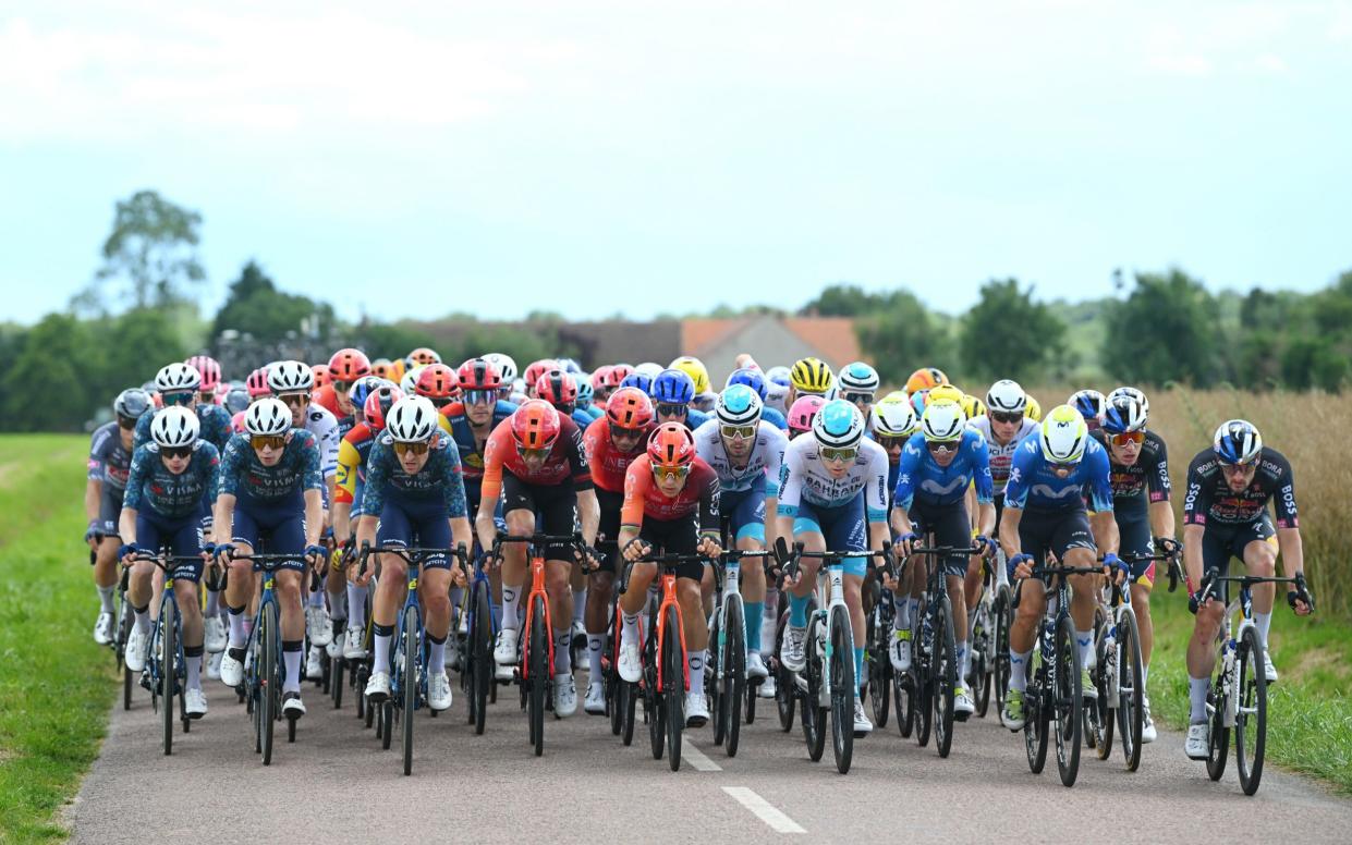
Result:
<svg viewBox="0 0 1352 845">
<path fill-rule="evenodd" d="M 1090 510 L 1111 512 L 1107 450 L 1096 439 L 1087 439 L 1084 457 L 1064 479 L 1056 476 L 1056 466 L 1059 464 L 1042 457 L 1042 441 L 1037 434 L 1019 441 L 1005 484 L 1005 507 L 1071 511 L 1083 508 L 1088 499 Z"/>
</svg>

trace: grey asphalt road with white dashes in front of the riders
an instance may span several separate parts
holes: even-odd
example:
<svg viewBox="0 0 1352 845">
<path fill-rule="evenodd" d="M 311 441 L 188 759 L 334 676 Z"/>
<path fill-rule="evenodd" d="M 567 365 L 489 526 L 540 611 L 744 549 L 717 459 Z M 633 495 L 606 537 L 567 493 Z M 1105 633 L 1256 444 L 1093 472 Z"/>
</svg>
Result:
<svg viewBox="0 0 1352 845">
<path fill-rule="evenodd" d="M 584 673 L 579 673 L 584 677 Z M 804 840 L 1348 842 L 1352 802 L 1274 768 L 1255 798 L 1233 773 L 1211 783 L 1183 756 L 1182 737 L 1161 731 L 1141 768 L 1125 771 L 1119 749 L 1099 761 L 1086 749 L 1067 790 L 1055 749 L 1032 775 L 1022 740 L 994 718 L 959 725 L 953 752 L 887 729 L 856 742 L 841 776 L 827 749 L 807 758 L 802 734 L 781 733 L 773 702 L 761 702 L 735 758 L 708 727 L 687 731 L 685 761 L 671 772 L 648 746 L 646 727 L 629 748 L 603 717 L 548 717 L 545 754 L 527 745 L 516 695 L 503 690 L 476 737 L 456 687 L 450 714 L 419 713 L 414 773 L 403 776 L 399 737 L 383 750 L 349 700 L 306 688 L 308 715 L 297 741 L 284 730 L 273 764 L 253 750 L 250 721 L 234 694 L 208 684 L 211 711 L 160 748 L 149 695 L 120 699 L 103 753 L 68 810 L 76 842 L 752 842 Z M 992 704 L 994 707 L 994 704 Z M 994 713 L 992 713 L 994 717 Z M 639 717 L 641 718 L 641 717 Z"/>
</svg>

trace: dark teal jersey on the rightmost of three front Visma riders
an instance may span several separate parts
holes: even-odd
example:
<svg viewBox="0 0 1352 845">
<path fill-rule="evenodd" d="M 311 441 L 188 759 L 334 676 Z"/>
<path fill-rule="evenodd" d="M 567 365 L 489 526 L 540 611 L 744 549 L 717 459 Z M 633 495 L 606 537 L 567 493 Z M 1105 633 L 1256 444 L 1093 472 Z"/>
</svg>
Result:
<svg viewBox="0 0 1352 845">
<path fill-rule="evenodd" d="M 376 439 L 366 465 L 366 487 L 362 492 L 361 512 L 379 516 L 385 500 L 395 503 L 442 503 L 446 516 L 465 516 L 465 483 L 460 470 L 460 450 L 445 431 L 437 430 L 427 462 L 410 475 L 395 453 L 395 438 L 388 433 Z"/>
</svg>

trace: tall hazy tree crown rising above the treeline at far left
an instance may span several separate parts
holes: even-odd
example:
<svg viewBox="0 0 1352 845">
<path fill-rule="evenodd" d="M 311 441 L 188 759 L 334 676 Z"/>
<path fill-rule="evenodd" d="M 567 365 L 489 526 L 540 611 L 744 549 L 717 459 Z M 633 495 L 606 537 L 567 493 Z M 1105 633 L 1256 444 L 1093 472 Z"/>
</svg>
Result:
<svg viewBox="0 0 1352 845">
<path fill-rule="evenodd" d="M 168 307 L 188 299 L 188 289 L 207 273 L 197 261 L 197 227 L 201 215 L 165 200 L 154 191 L 138 191 L 120 200 L 112 234 L 103 243 L 103 266 L 95 281 L 76 297 L 76 304 L 103 307 L 101 288 L 124 279 L 135 308 Z"/>
</svg>

